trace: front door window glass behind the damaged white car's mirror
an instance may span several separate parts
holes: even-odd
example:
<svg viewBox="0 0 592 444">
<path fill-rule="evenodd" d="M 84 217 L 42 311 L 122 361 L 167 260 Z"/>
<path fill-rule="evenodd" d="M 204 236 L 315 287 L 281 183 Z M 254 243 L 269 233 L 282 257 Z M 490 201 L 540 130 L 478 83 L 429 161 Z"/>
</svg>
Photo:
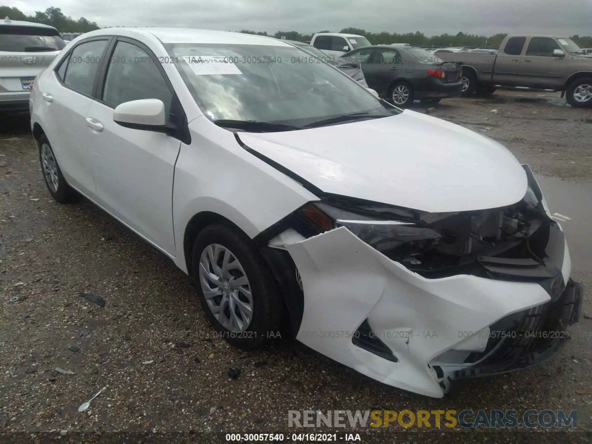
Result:
<svg viewBox="0 0 592 444">
<path fill-rule="evenodd" d="M 134 44 L 118 41 L 107 70 L 102 100 L 115 108 L 131 100 L 160 99 L 168 116 L 172 98 L 152 57 Z"/>
</svg>

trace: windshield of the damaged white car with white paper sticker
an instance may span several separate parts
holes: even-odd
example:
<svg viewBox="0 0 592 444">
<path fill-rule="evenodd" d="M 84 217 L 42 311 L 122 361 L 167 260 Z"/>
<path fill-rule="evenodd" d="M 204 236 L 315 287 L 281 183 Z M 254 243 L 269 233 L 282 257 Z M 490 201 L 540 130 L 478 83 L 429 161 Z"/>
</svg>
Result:
<svg viewBox="0 0 592 444">
<path fill-rule="evenodd" d="M 302 127 L 346 114 L 385 117 L 399 111 L 320 59 L 303 58 L 293 46 L 165 47 L 195 101 L 213 121 Z"/>
</svg>

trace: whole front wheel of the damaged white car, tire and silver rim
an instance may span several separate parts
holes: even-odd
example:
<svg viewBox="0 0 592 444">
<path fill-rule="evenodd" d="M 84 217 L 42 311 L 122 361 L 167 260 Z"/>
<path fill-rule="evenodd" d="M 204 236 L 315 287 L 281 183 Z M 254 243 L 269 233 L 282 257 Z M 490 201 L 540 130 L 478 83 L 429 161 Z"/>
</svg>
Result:
<svg viewBox="0 0 592 444">
<path fill-rule="evenodd" d="M 244 234 L 224 224 L 202 230 L 192 274 L 208 320 L 231 345 L 255 349 L 279 336 L 284 310 L 275 279 Z"/>
</svg>

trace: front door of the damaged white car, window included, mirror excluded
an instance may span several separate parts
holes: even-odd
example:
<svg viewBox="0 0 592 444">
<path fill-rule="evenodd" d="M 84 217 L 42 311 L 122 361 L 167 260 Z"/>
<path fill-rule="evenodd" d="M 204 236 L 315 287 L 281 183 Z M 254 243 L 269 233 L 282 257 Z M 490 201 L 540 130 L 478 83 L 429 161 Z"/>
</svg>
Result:
<svg viewBox="0 0 592 444">
<path fill-rule="evenodd" d="M 98 101 L 86 114 L 98 203 L 174 256 L 173 172 L 181 141 L 113 121 L 117 105 L 148 98 L 162 100 L 170 117 L 177 99 L 156 57 L 141 43 L 118 38 Z"/>
</svg>

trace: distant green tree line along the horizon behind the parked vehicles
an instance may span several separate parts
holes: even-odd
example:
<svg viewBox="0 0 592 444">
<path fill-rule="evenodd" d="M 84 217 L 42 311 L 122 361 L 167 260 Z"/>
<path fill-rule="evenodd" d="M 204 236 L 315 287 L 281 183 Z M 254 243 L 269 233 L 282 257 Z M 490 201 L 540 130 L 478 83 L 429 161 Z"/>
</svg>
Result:
<svg viewBox="0 0 592 444">
<path fill-rule="evenodd" d="M 46 25 L 53 26 L 60 33 L 88 33 L 99 29 L 99 26 L 95 22 L 86 20 L 81 17 L 75 20 L 71 17 L 66 17 L 62 9 L 60 8 L 47 8 L 45 11 L 37 11 L 35 15 L 25 15 L 18 8 L 0 6 L 0 20 L 4 17 L 10 17 L 12 20 L 25 20 L 36 23 L 43 23 Z M 259 36 L 270 36 L 275 38 L 285 37 L 288 40 L 297 41 L 310 41 L 314 34 L 301 34 L 298 31 L 278 31 L 271 35 L 266 32 L 257 32 L 242 30 L 244 34 L 258 34 Z M 329 33 L 331 31 L 324 30 L 319 31 L 321 33 Z M 497 49 L 500 46 L 504 37 L 507 34 L 496 34 L 495 36 L 485 37 L 477 36 L 475 34 L 458 33 L 442 34 L 440 36 L 427 37 L 423 33 L 417 31 L 416 33 L 387 33 L 382 31 L 381 33 L 369 33 L 359 28 L 345 28 L 339 31 L 340 33 L 358 34 L 359 36 L 365 36 L 372 44 L 390 44 L 390 43 L 408 43 L 412 46 L 421 47 L 445 47 L 445 46 L 458 46 L 458 47 L 471 47 L 471 48 L 493 48 Z M 578 44 L 581 48 L 592 48 L 592 37 L 580 37 L 572 36 L 572 40 Z"/>
</svg>

